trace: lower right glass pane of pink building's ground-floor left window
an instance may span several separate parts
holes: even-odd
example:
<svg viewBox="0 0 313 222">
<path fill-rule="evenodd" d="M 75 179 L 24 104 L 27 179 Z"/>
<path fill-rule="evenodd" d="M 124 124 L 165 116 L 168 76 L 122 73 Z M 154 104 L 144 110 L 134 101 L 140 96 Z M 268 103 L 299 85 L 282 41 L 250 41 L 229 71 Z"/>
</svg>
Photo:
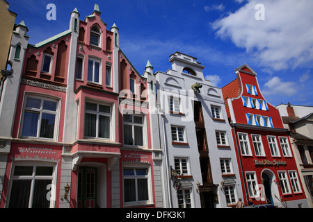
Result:
<svg viewBox="0 0 313 222">
<path fill-rule="evenodd" d="M 52 180 L 35 180 L 33 208 L 49 208 L 50 198 L 47 198 L 47 194 L 51 190 L 47 187 L 51 185 L 51 182 Z"/>
</svg>

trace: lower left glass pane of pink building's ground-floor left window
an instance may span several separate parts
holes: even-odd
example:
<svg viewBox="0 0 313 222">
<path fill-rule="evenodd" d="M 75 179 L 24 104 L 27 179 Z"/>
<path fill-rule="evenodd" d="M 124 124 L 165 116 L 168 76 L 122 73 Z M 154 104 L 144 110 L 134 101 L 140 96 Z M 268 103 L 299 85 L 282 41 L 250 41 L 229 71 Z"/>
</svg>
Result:
<svg viewBox="0 0 313 222">
<path fill-rule="evenodd" d="M 13 180 L 10 208 L 28 208 L 31 194 L 31 180 Z"/>
</svg>

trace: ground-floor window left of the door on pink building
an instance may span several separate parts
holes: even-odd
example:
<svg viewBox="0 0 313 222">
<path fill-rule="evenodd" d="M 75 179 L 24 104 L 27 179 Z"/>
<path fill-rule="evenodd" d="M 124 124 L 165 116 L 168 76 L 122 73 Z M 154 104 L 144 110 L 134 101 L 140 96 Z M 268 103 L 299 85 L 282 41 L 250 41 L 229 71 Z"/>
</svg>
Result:
<svg viewBox="0 0 313 222">
<path fill-rule="evenodd" d="M 54 167 L 44 164 L 16 165 L 10 191 L 10 208 L 53 207 Z M 51 192 L 51 198 L 47 198 Z"/>
</svg>

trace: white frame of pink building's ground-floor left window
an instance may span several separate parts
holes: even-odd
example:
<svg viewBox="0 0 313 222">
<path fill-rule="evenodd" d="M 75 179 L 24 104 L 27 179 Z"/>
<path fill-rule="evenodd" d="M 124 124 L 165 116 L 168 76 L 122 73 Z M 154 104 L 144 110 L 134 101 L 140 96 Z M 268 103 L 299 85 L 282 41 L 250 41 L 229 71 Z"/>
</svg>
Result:
<svg viewBox="0 0 313 222">
<path fill-rule="evenodd" d="M 15 167 L 33 167 L 33 173 L 31 176 L 14 176 Z M 35 176 L 36 167 L 53 167 L 51 176 Z M 35 188 L 35 180 L 51 180 L 51 187 L 47 187 L 47 194 L 50 194 L 50 205 L 49 208 L 54 208 L 55 200 L 56 200 L 56 164 L 48 163 L 48 162 L 35 162 L 35 163 L 27 163 L 27 162 L 15 162 L 12 167 L 12 173 L 10 178 L 10 188 L 8 191 L 8 203 L 6 203 L 6 207 L 10 205 L 10 194 L 12 191 L 13 180 L 31 180 L 31 193 L 29 196 L 29 208 L 31 208 L 33 203 L 33 194 Z M 46 195 L 47 198 L 47 195 Z"/>
</svg>

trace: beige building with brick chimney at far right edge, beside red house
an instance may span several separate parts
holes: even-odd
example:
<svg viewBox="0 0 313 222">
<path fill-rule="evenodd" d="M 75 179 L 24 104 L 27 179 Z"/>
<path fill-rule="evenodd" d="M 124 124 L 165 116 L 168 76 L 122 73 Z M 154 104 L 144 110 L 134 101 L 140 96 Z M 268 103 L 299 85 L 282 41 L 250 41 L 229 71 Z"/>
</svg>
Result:
<svg viewBox="0 0 313 222">
<path fill-rule="evenodd" d="M 296 157 L 305 196 L 313 207 L 313 107 L 278 105 L 284 128 L 290 130 L 291 148 Z"/>
</svg>

